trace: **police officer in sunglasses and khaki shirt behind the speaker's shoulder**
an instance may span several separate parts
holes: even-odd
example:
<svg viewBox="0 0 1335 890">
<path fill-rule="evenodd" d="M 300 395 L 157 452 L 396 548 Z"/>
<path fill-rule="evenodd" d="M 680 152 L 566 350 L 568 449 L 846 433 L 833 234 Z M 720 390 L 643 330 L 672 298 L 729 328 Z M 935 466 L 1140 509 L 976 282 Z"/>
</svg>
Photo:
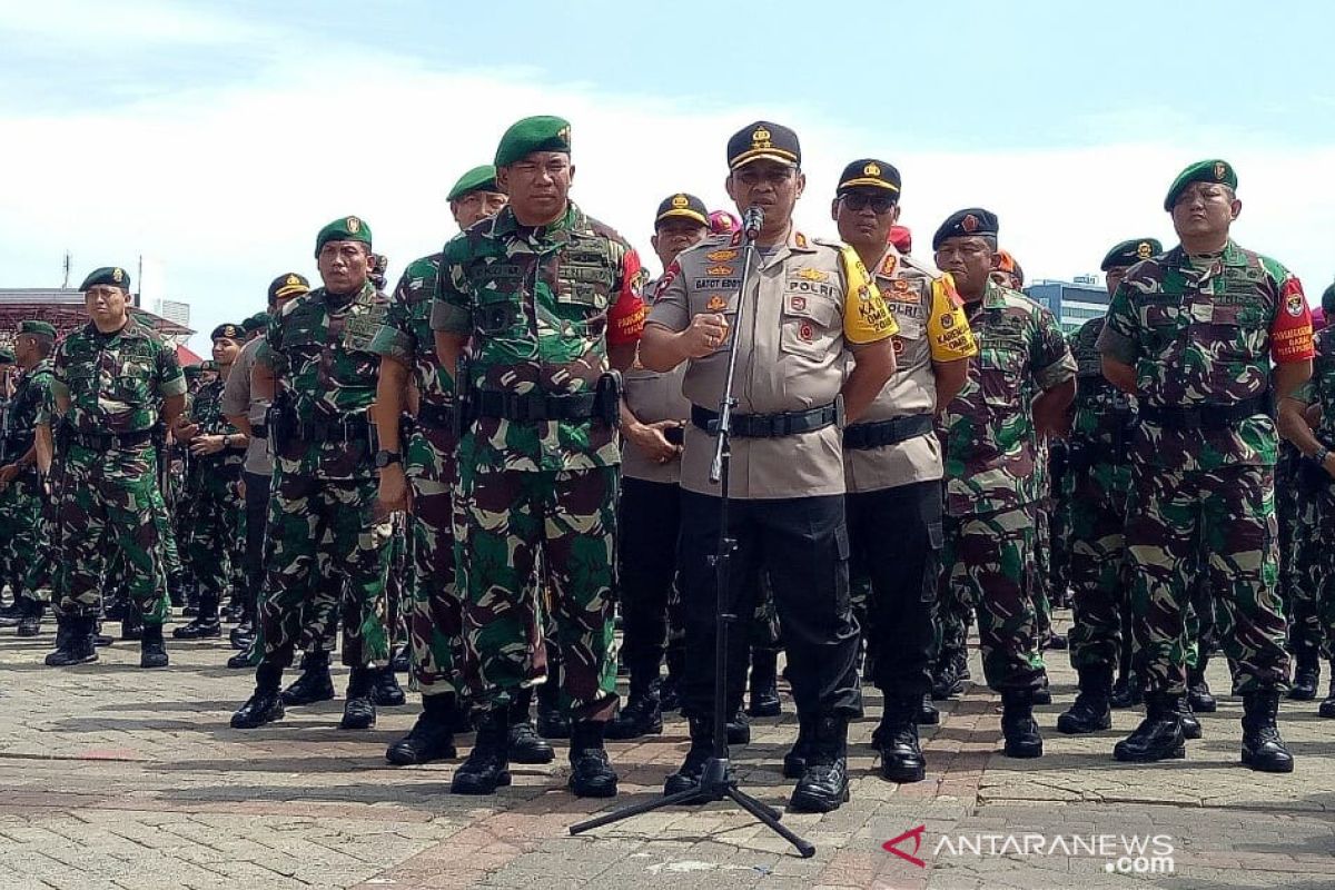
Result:
<svg viewBox="0 0 1335 890">
<path fill-rule="evenodd" d="M 894 315 L 896 371 L 866 414 L 844 431 L 853 566 L 872 580 L 872 679 L 885 697 L 873 735 L 881 775 L 917 782 L 920 709 L 930 707 L 928 667 L 941 550 L 941 446 L 932 415 L 964 387 L 977 352 L 955 282 L 889 244 L 900 215 L 900 172 L 882 160 L 850 163 L 830 213 Z M 925 699 L 925 702 L 924 702 Z"/>
</svg>

